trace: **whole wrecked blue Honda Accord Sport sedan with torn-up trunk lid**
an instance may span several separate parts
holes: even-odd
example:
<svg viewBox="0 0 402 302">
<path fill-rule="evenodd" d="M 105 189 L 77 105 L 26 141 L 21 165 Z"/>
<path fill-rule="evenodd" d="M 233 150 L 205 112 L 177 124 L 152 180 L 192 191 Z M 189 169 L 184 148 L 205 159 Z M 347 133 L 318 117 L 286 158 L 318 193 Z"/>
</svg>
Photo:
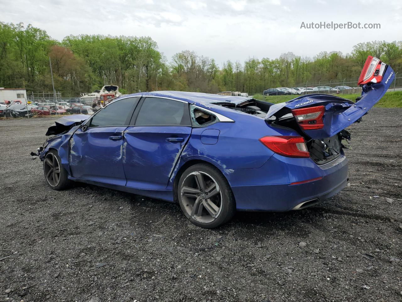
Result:
<svg viewBox="0 0 402 302">
<path fill-rule="evenodd" d="M 119 97 L 92 116 L 65 116 L 37 153 L 50 188 L 73 181 L 178 202 L 214 228 L 235 211 L 305 209 L 342 190 L 350 133 L 394 72 L 369 56 L 354 103 L 311 94 L 271 104 L 248 97 L 156 91 Z"/>
</svg>

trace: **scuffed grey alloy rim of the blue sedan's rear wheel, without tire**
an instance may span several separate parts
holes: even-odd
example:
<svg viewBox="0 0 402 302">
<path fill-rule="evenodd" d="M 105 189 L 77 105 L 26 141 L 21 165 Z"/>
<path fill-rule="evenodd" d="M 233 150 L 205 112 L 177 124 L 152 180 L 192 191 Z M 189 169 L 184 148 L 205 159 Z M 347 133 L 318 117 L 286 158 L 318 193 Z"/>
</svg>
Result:
<svg viewBox="0 0 402 302">
<path fill-rule="evenodd" d="M 222 192 L 205 172 L 191 172 L 183 181 L 181 199 L 187 213 L 202 223 L 214 221 L 222 210 Z"/>
</svg>

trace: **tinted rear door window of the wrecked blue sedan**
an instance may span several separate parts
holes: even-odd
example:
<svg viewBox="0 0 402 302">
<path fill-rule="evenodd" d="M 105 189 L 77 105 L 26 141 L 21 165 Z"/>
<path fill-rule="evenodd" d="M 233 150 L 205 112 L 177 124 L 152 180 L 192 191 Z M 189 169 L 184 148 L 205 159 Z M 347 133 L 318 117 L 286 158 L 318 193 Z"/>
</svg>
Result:
<svg viewBox="0 0 402 302">
<path fill-rule="evenodd" d="M 188 103 L 158 97 L 146 97 L 139 110 L 137 126 L 191 126 Z"/>
</svg>

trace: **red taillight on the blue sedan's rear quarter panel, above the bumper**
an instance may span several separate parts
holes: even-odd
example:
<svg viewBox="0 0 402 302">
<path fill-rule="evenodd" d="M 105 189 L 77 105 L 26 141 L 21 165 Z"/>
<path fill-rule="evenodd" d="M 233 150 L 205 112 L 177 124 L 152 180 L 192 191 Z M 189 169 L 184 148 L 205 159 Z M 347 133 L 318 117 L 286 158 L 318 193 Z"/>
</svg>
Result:
<svg viewBox="0 0 402 302">
<path fill-rule="evenodd" d="M 287 157 L 310 157 L 303 137 L 262 137 L 260 142 L 275 153 Z"/>
</svg>

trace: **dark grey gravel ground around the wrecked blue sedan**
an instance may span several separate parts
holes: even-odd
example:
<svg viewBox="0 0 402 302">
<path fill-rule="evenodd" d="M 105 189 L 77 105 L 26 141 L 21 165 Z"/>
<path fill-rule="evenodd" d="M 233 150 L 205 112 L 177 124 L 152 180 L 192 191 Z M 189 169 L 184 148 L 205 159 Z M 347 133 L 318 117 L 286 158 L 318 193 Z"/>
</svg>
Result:
<svg viewBox="0 0 402 302">
<path fill-rule="evenodd" d="M 335 197 L 215 230 L 172 203 L 51 190 L 29 152 L 54 119 L 0 120 L 0 301 L 402 301 L 401 117 L 350 127 Z"/>
</svg>

